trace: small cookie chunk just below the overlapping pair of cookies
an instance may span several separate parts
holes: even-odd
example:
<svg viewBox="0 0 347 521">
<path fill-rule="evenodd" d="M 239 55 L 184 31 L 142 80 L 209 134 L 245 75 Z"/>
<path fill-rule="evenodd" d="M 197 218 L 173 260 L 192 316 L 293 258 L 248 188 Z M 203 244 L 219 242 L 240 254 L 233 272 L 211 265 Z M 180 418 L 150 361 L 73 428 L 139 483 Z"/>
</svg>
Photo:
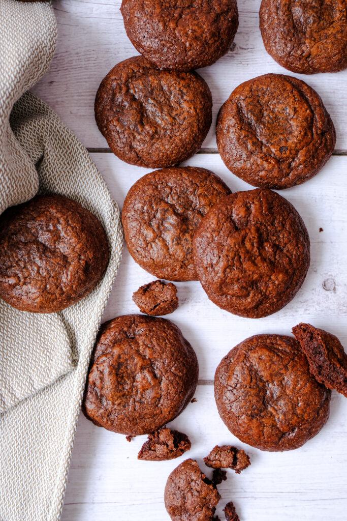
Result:
<svg viewBox="0 0 347 521">
<path fill-rule="evenodd" d="M 168 315 L 178 307 L 177 288 L 172 282 L 153 280 L 135 291 L 133 301 L 141 313 Z"/>
</svg>

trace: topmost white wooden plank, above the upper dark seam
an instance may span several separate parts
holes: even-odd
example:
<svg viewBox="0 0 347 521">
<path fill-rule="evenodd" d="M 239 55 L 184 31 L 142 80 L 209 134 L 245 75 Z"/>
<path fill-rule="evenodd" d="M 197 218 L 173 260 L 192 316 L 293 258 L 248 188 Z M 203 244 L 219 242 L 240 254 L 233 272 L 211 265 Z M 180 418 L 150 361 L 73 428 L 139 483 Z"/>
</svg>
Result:
<svg viewBox="0 0 347 521">
<path fill-rule="evenodd" d="M 54 108 L 88 147 L 106 147 L 94 121 L 100 81 L 119 61 L 138 54 L 128 40 L 119 10 L 121 0 L 55 0 L 58 48 L 45 77 L 33 92 Z M 203 147 L 215 147 L 215 118 L 230 92 L 242 81 L 266 72 L 297 76 L 322 96 L 335 123 L 338 150 L 347 150 L 347 70 L 334 74 L 294 75 L 266 53 L 258 17 L 259 2 L 239 2 L 235 46 L 211 67 L 200 69 L 213 95 L 213 123 Z"/>
</svg>

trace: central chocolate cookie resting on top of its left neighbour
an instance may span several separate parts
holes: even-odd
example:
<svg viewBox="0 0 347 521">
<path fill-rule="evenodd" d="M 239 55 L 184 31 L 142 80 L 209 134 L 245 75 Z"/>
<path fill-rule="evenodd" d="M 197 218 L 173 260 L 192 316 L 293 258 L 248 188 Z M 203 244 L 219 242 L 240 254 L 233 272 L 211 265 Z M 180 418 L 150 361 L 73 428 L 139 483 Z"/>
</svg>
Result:
<svg viewBox="0 0 347 521">
<path fill-rule="evenodd" d="M 265 317 L 301 287 L 310 265 L 309 234 L 295 208 L 276 192 L 237 192 L 201 220 L 194 263 L 217 306 L 242 317 Z"/>
</svg>

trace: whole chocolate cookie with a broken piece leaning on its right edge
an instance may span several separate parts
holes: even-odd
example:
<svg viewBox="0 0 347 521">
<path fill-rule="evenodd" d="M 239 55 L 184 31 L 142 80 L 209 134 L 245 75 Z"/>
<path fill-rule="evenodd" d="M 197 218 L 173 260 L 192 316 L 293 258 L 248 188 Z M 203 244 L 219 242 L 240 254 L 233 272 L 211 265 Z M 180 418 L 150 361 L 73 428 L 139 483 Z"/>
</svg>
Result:
<svg viewBox="0 0 347 521">
<path fill-rule="evenodd" d="M 279 334 L 255 335 L 229 351 L 214 395 L 230 432 L 263 451 L 297 449 L 329 417 L 331 391 L 311 375 L 298 342 Z"/>
</svg>

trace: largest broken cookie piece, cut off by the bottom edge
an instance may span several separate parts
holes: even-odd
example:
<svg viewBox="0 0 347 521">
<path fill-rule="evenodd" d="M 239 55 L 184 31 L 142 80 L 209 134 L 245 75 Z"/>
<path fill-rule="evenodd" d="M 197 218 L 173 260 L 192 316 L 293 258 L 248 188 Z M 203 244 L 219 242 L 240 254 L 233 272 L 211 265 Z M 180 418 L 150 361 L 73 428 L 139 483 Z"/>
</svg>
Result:
<svg viewBox="0 0 347 521">
<path fill-rule="evenodd" d="M 172 521 L 212 521 L 220 499 L 195 460 L 178 465 L 166 481 L 164 502 Z"/>
</svg>

